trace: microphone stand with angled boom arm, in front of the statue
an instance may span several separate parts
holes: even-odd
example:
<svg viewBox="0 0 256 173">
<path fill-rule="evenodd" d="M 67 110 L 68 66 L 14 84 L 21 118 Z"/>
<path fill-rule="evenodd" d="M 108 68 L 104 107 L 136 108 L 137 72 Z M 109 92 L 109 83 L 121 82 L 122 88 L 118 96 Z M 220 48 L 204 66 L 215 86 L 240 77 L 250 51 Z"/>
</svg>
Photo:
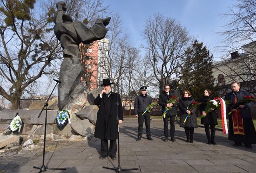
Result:
<svg viewBox="0 0 256 173">
<path fill-rule="evenodd" d="M 57 83 L 55 84 L 54 86 L 54 89 L 56 88 L 57 84 L 58 83 L 61 83 L 61 81 L 57 81 L 57 80 L 54 80 L 56 81 Z M 54 92 L 54 89 L 52 90 L 50 96 L 48 97 L 46 103 L 44 104 L 44 107 L 43 109 L 41 110 L 41 112 L 39 113 L 38 117 L 40 117 L 41 113 L 43 112 L 44 108 L 46 107 L 46 113 L 45 113 L 45 125 L 44 125 L 44 147 L 43 147 L 43 164 L 41 167 L 33 167 L 33 168 L 36 168 L 36 169 L 40 169 L 40 172 L 38 173 L 41 173 L 41 172 L 45 172 L 47 170 L 66 170 L 66 168 L 47 168 L 45 165 L 44 165 L 44 159 L 45 159 L 45 141 L 46 141 L 46 124 L 47 124 L 47 107 L 48 107 L 48 101 L 50 99 L 50 97 L 52 96 L 53 92 Z"/>
</svg>

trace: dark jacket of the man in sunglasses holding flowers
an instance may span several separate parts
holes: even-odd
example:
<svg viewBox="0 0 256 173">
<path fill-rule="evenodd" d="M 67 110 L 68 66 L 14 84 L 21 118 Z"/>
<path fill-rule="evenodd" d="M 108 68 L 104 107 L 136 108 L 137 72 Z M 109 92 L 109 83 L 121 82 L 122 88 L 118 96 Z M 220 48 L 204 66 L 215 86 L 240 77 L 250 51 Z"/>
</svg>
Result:
<svg viewBox="0 0 256 173">
<path fill-rule="evenodd" d="M 174 96 L 174 93 L 169 92 L 169 94 L 167 95 L 167 93 L 165 91 L 163 91 L 159 95 L 158 103 L 159 103 L 160 106 L 162 106 L 162 112 L 165 110 L 167 100 L 168 100 L 168 96 Z M 169 116 L 177 115 L 177 109 L 176 109 L 177 105 L 178 105 L 178 103 L 174 103 L 173 106 L 172 106 L 172 109 L 168 110 L 166 115 L 169 115 Z"/>
</svg>

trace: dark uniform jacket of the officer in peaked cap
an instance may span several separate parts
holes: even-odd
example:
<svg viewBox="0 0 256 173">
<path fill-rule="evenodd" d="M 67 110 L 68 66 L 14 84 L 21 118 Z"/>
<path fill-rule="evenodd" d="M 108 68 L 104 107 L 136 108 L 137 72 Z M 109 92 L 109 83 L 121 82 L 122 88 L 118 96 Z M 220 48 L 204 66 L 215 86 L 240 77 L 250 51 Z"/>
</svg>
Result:
<svg viewBox="0 0 256 173">
<path fill-rule="evenodd" d="M 141 115 L 147 108 L 147 106 L 152 103 L 151 98 L 148 96 L 146 93 L 145 96 L 140 94 L 139 96 L 136 97 L 136 100 L 134 102 L 134 114 L 135 115 Z M 148 112 L 146 112 L 148 113 Z"/>
</svg>

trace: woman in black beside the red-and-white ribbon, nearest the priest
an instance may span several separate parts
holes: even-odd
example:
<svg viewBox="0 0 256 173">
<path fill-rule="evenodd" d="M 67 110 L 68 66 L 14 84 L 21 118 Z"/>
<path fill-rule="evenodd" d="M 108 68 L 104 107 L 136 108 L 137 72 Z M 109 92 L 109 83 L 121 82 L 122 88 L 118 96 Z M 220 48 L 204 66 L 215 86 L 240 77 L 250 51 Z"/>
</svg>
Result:
<svg viewBox="0 0 256 173">
<path fill-rule="evenodd" d="M 213 100 L 212 92 L 208 89 L 203 91 L 203 96 L 200 99 L 199 102 L 201 102 L 201 105 L 199 106 L 199 110 L 202 113 L 202 115 L 206 115 L 201 119 L 201 124 L 204 124 L 205 133 L 208 139 L 208 144 L 214 144 L 216 145 L 215 139 L 215 126 L 218 124 L 217 122 L 217 114 L 214 109 L 211 108 L 211 112 L 206 113 L 205 107 L 207 105 L 207 102 L 209 100 Z M 211 134 L 209 130 L 209 126 L 211 129 Z"/>
</svg>

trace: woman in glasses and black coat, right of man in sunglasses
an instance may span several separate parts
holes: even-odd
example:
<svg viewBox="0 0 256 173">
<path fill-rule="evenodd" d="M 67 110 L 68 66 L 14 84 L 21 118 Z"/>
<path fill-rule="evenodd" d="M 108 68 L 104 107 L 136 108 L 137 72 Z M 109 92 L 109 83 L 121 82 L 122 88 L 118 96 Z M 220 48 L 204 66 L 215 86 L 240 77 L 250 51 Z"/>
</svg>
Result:
<svg viewBox="0 0 256 173">
<path fill-rule="evenodd" d="M 185 128 L 185 133 L 187 135 L 187 142 L 193 143 L 194 137 L 194 128 L 198 128 L 197 120 L 195 115 L 195 108 L 189 110 L 189 105 L 195 102 L 194 98 L 191 96 L 189 90 L 184 90 L 182 92 L 182 98 L 180 99 L 179 107 L 182 111 L 181 119 L 180 119 L 180 127 Z M 184 120 L 187 118 L 186 122 Z"/>
</svg>

